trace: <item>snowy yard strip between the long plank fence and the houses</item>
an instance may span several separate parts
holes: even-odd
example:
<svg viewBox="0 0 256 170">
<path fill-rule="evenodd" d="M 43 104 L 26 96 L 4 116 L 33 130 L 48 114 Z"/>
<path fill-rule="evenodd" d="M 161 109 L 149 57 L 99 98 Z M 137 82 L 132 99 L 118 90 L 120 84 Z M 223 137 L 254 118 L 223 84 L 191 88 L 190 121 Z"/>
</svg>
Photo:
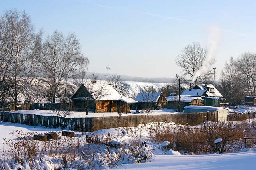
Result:
<svg viewBox="0 0 256 170">
<path fill-rule="evenodd" d="M 55 112 L 51 110 L 19 110 L 19 111 L 11 111 L 14 113 L 23 113 L 23 114 L 36 114 L 41 116 L 58 116 Z M 131 110 L 131 113 L 123 113 L 121 116 L 128 116 L 128 115 L 158 115 L 158 114 L 174 114 L 172 109 L 164 109 L 164 110 L 152 110 L 150 113 L 137 113 L 134 114 L 135 110 Z M 89 112 L 86 115 L 86 112 L 72 112 L 72 115 L 66 116 L 67 118 L 81 118 L 81 117 L 108 117 L 108 116 L 119 116 L 118 113 L 93 113 Z"/>
</svg>

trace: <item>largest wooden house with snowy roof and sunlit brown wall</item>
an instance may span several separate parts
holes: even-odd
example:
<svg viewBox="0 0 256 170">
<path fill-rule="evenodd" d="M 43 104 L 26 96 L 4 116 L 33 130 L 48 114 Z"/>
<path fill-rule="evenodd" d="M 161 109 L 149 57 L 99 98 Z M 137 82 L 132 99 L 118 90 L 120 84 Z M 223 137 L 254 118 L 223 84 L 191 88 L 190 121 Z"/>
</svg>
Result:
<svg viewBox="0 0 256 170">
<path fill-rule="evenodd" d="M 73 110 L 85 112 L 90 105 L 92 112 L 130 112 L 130 105 L 137 101 L 120 95 L 110 84 L 94 81 L 90 85 L 81 85 L 71 97 Z"/>
</svg>

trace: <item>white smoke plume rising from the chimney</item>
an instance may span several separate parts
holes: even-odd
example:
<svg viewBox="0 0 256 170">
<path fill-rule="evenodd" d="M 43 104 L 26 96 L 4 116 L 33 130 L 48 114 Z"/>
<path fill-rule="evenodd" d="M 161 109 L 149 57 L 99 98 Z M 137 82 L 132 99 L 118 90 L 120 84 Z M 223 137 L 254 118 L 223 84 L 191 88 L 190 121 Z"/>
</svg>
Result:
<svg viewBox="0 0 256 170">
<path fill-rule="evenodd" d="M 209 29 L 209 37 L 207 41 L 207 47 L 209 49 L 207 56 L 205 57 L 205 60 L 203 61 L 202 66 L 194 73 L 191 83 L 194 83 L 196 78 L 200 75 L 206 73 L 209 69 L 211 69 L 211 60 L 213 59 L 214 52 L 219 44 L 219 38 L 220 38 L 220 28 L 218 26 L 212 26 Z"/>
</svg>

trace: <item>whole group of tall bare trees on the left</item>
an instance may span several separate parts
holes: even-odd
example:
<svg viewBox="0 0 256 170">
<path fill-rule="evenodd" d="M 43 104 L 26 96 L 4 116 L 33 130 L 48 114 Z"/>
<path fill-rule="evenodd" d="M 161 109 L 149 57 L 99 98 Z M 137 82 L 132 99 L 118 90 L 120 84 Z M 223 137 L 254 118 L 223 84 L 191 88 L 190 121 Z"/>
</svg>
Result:
<svg viewBox="0 0 256 170">
<path fill-rule="evenodd" d="M 68 79 L 88 66 L 74 33 L 55 30 L 43 38 L 25 11 L 5 11 L 0 18 L 0 106 L 46 99 L 65 101 Z M 21 96 L 21 99 L 19 97 Z M 22 101 L 20 101 L 22 100 Z"/>
</svg>

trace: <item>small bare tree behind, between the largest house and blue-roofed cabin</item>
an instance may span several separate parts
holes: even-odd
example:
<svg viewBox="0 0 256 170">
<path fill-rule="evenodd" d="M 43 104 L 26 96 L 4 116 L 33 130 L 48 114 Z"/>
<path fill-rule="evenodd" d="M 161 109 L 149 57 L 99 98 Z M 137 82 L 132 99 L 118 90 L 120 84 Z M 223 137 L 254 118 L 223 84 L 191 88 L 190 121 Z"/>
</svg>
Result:
<svg viewBox="0 0 256 170">
<path fill-rule="evenodd" d="M 123 96 L 128 96 L 129 93 L 129 85 L 122 79 L 120 75 L 115 74 L 110 78 L 110 84 L 114 87 L 114 89 Z"/>
</svg>

